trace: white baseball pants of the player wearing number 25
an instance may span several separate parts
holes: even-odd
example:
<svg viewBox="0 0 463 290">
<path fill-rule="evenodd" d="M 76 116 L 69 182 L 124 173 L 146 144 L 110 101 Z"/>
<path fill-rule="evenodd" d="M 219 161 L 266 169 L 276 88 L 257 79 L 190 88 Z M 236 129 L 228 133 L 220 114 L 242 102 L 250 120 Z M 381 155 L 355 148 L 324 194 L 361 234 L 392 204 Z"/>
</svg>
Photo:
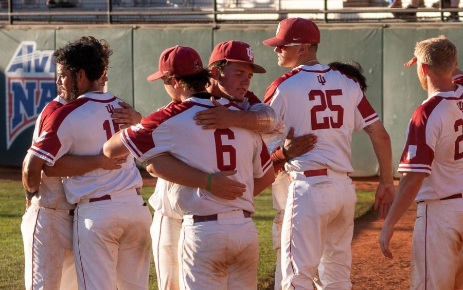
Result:
<svg viewBox="0 0 463 290">
<path fill-rule="evenodd" d="M 327 174 L 327 175 L 326 175 Z M 310 174 L 309 174 L 310 175 Z M 281 231 L 282 289 L 350 289 L 355 186 L 345 172 L 291 172 Z"/>
</svg>

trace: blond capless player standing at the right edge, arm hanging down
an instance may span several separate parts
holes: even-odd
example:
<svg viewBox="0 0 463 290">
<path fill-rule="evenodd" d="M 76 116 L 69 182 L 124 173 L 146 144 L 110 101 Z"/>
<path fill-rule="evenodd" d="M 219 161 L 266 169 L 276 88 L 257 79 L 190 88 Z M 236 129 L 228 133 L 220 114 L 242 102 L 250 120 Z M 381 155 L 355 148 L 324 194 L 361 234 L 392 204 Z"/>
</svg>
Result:
<svg viewBox="0 0 463 290">
<path fill-rule="evenodd" d="M 379 242 L 393 258 L 394 225 L 417 202 L 413 230 L 411 289 L 463 288 L 463 75 L 454 72 L 457 50 L 445 36 L 418 42 L 405 66 L 417 65 L 428 98 L 412 115 L 398 171 L 397 197 Z"/>
</svg>

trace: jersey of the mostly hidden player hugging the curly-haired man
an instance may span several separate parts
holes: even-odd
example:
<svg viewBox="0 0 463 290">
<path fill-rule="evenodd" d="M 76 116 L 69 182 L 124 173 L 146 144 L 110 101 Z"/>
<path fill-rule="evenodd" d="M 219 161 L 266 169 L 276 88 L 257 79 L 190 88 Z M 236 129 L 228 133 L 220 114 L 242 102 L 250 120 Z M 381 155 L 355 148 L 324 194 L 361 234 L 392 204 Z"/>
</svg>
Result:
<svg viewBox="0 0 463 290">
<path fill-rule="evenodd" d="M 52 112 L 65 104 L 66 101 L 61 98 L 61 96 L 57 96 L 53 101 L 48 103 L 43 108 L 42 112 L 37 118 L 37 121 L 35 121 L 32 144 L 39 139 L 45 120 L 50 117 Z M 29 150 L 29 152 L 31 152 L 31 150 Z M 73 204 L 69 204 L 66 201 L 61 177 L 48 177 L 43 171 L 42 178 L 40 180 L 39 191 L 32 197 L 31 203 L 37 206 L 54 209 L 72 209 L 75 207 Z"/>
</svg>

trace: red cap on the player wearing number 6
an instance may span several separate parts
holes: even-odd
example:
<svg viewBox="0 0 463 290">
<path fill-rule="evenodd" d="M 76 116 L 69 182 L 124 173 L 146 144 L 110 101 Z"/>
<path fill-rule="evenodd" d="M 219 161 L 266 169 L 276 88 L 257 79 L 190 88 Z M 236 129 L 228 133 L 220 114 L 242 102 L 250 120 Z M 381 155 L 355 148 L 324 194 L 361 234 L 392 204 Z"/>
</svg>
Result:
<svg viewBox="0 0 463 290">
<path fill-rule="evenodd" d="M 184 76 L 203 70 L 201 56 L 188 46 L 177 45 L 168 48 L 159 56 L 159 70 L 148 76 L 148 81 L 161 79 L 163 76 Z"/>
</svg>

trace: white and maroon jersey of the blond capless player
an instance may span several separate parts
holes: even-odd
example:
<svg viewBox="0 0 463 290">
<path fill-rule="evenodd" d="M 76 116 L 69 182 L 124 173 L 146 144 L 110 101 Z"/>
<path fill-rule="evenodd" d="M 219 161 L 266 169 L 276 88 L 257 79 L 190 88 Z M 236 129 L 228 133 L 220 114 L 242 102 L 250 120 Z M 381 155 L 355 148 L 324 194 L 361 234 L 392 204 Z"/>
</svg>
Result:
<svg viewBox="0 0 463 290">
<path fill-rule="evenodd" d="M 463 191 L 463 86 L 435 93 L 412 115 L 399 172 L 424 172 L 415 201 Z"/>
</svg>

